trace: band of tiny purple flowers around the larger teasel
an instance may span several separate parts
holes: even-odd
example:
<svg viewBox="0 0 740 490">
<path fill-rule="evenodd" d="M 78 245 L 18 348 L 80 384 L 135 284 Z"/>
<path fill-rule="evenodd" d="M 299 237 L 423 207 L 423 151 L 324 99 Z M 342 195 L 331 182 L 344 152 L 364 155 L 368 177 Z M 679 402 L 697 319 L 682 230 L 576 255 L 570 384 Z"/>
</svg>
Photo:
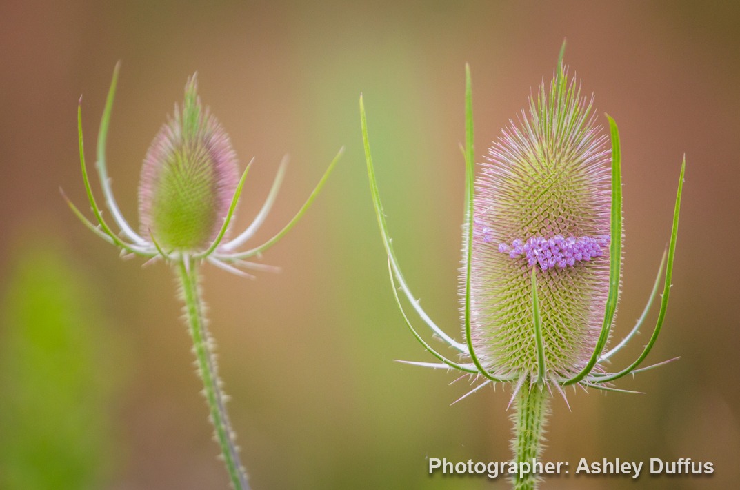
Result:
<svg viewBox="0 0 740 490">
<path fill-rule="evenodd" d="M 499 252 L 508 253 L 513 259 L 526 258 L 529 266 L 539 265 L 542 270 L 555 267 L 565 269 L 579 262 L 588 262 L 591 258 L 601 257 L 604 255 L 602 246 L 607 246 L 609 240 L 608 235 L 579 238 L 555 235 L 552 238 L 531 237 L 527 241 L 517 238 L 511 245 L 499 244 Z"/>
</svg>

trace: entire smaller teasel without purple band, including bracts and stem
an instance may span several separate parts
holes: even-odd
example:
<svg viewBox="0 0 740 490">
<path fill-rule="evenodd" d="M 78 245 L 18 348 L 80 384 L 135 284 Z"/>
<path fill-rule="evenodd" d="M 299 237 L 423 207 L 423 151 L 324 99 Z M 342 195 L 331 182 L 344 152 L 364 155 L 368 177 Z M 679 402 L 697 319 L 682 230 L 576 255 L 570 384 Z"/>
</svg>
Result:
<svg viewBox="0 0 740 490">
<path fill-rule="evenodd" d="M 98 158 L 95 167 L 100 177 L 106 207 L 120 232 L 114 232 L 103 218 L 103 212 L 92 193 L 84 156 L 81 100 L 77 110 L 80 166 L 87 198 L 97 224 L 88 220 L 68 199 L 67 204 L 85 226 L 104 241 L 121 249 L 122 255 L 141 255 L 149 258 L 147 263 L 164 260 L 176 270 L 198 375 L 203 381 L 203 395 L 206 397 L 209 420 L 214 428 L 214 438 L 221 446 L 221 457 L 232 488 L 249 490 L 246 470 L 240 462 L 235 431 L 226 413 L 226 395 L 218 377 L 214 343 L 206 327 L 206 307 L 201 295 L 198 266 L 203 261 L 208 261 L 226 271 L 249 277 L 253 276 L 245 270 L 277 269 L 245 259 L 260 255 L 297 223 L 329 178 L 342 150 L 329 164 L 303 207 L 280 232 L 260 246 L 235 251 L 255 235 L 269 214 L 283 181 L 287 159 L 283 159 L 280 164 L 275 184 L 252 224 L 231 241 L 224 242 L 249 165 L 239 178 L 237 158 L 229 137 L 221 124 L 201 104 L 198 84 L 193 75 L 185 85 L 183 104 L 180 107 L 175 106 L 174 116 L 155 136 L 144 158 L 138 193 L 141 229 L 140 232 L 135 232 L 113 197 L 105 158 L 105 143 L 118 69 L 119 66 L 116 65 L 98 132 Z"/>
</svg>

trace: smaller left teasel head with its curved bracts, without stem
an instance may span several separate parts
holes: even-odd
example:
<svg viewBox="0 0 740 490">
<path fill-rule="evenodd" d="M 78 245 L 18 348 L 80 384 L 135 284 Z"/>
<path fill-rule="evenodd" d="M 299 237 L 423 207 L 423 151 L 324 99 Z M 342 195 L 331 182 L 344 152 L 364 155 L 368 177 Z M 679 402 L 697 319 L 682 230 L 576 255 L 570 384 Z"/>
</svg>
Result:
<svg viewBox="0 0 740 490">
<path fill-rule="evenodd" d="M 144 157 L 138 189 L 141 227 L 136 232 L 115 201 L 105 155 L 118 70 L 119 65 L 116 65 L 98 131 L 95 167 L 100 177 L 106 207 L 120 231 L 115 232 L 103 218 L 103 212 L 92 193 L 84 158 L 81 99 L 78 106 L 80 164 L 87 198 L 97 224 L 85 218 L 67 200 L 75 215 L 96 235 L 118 246 L 124 256 L 141 255 L 150 261 L 164 259 L 184 264 L 208 261 L 228 272 L 247 277 L 253 276 L 246 273 L 246 270 L 277 269 L 246 259 L 261 255 L 295 226 L 329 178 L 343 150 L 337 153 L 303 207 L 280 232 L 259 246 L 238 251 L 240 246 L 255 235 L 269 215 L 288 160 L 287 157 L 283 158 L 280 163 L 275 182 L 254 221 L 235 238 L 226 241 L 252 162 L 239 177 L 238 161 L 229 136 L 209 109 L 201 104 L 197 78 L 192 75 L 185 85 L 183 103 L 175 106 L 174 115 L 161 127 Z"/>
</svg>

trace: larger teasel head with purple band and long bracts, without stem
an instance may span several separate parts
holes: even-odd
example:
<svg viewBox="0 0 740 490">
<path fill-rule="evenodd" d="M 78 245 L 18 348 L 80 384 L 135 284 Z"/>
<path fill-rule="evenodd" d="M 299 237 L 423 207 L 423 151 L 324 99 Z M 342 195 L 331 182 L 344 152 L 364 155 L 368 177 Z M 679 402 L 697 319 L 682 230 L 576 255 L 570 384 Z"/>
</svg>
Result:
<svg viewBox="0 0 740 490">
<path fill-rule="evenodd" d="M 394 298 L 414 338 L 438 361 L 401 362 L 456 369 L 482 380 L 467 395 L 499 382 L 513 383 L 514 396 L 522 386 L 536 385 L 561 393 L 562 386 L 572 384 L 626 392 L 611 386 L 611 381 L 663 364 L 640 367 L 665 320 L 685 159 L 670 243 L 650 298 L 628 335 L 607 351 L 622 269 L 619 130 L 608 115 L 609 131 L 599 126 L 593 96 L 584 97 L 580 82 L 569 79 L 562 62 L 564 50 L 565 44 L 552 81 L 543 83 L 518 121 L 502 130 L 477 176 L 471 76 L 465 67 L 465 213 L 460 269 L 463 341 L 426 314 L 401 273 L 380 202 L 360 97 L 371 195 L 388 255 Z M 605 363 L 637 335 L 658 296 L 656 326 L 642 354 L 624 369 L 606 372 Z M 439 352 L 420 335 L 403 308 L 402 297 L 461 360 Z"/>
</svg>

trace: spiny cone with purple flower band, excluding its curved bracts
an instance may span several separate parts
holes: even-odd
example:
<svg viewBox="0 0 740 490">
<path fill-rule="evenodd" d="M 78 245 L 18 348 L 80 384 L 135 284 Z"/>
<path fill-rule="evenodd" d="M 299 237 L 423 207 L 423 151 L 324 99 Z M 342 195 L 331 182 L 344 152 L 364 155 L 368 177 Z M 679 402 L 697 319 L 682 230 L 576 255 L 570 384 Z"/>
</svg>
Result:
<svg viewBox="0 0 740 490">
<path fill-rule="evenodd" d="M 471 338 L 491 375 L 536 377 L 535 269 L 548 377 L 591 358 L 609 292 L 610 150 L 591 100 L 556 73 L 502 131 L 475 185 Z"/>
</svg>

